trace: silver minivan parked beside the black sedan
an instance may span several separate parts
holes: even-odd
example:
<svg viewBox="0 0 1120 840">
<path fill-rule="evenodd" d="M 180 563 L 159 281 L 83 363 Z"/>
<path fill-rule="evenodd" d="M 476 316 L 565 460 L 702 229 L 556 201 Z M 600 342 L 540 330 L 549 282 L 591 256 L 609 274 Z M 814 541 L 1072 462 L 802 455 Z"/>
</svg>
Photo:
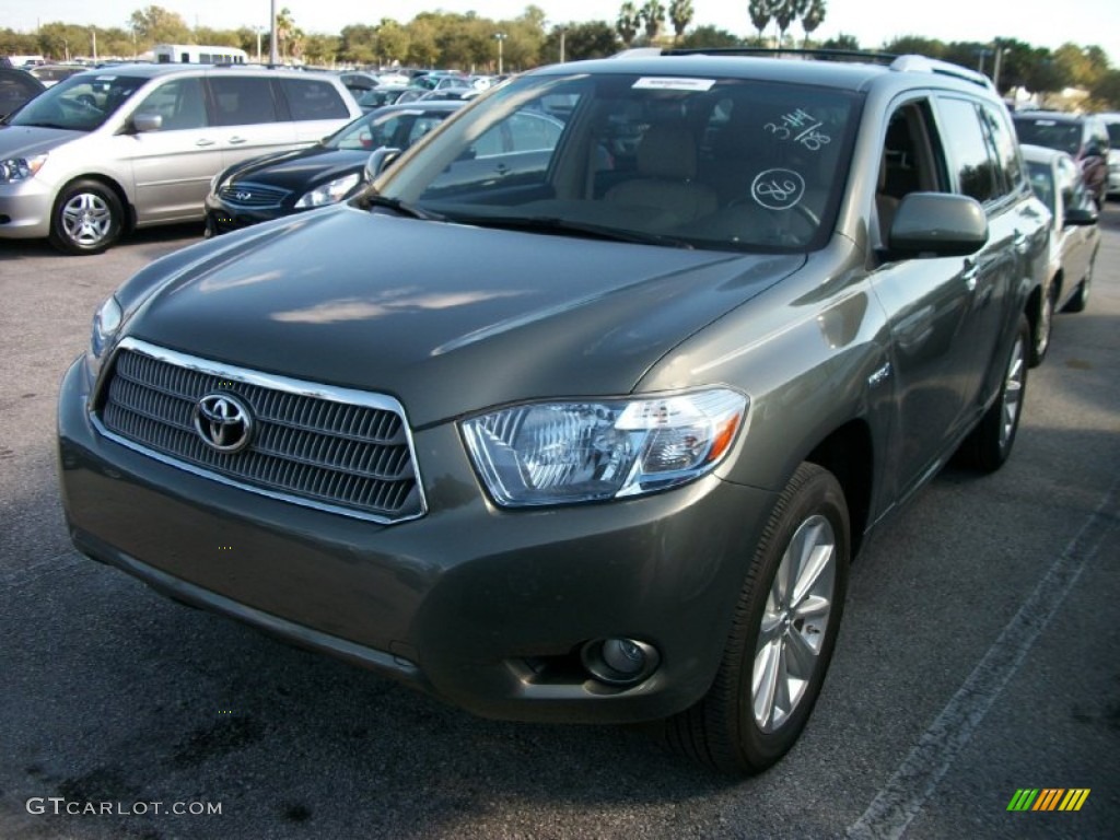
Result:
<svg viewBox="0 0 1120 840">
<path fill-rule="evenodd" d="M 337 76 L 127 64 L 71 76 L 0 123 L 0 237 L 100 253 L 122 233 L 203 220 L 231 164 L 360 116 Z"/>
</svg>

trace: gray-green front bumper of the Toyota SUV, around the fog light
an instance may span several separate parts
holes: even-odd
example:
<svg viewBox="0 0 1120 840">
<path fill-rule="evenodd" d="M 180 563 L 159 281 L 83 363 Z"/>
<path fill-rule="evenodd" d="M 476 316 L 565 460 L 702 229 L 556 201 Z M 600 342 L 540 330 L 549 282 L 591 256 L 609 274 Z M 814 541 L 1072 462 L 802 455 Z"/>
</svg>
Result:
<svg viewBox="0 0 1120 840">
<path fill-rule="evenodd" d="M 429 513 L 382 526 L 225 486 L 97 435 L 82 360 L 58 405 L 75 545 L 183 600 L 486 717 L 623 722 L 696 702 L 718 668 L 773 494 L 707 476 L 608 504 L 489 505 L 454 424 L 414 432 Z M 660 668 L 594 680 L 581 646 Z"/>
</svg>

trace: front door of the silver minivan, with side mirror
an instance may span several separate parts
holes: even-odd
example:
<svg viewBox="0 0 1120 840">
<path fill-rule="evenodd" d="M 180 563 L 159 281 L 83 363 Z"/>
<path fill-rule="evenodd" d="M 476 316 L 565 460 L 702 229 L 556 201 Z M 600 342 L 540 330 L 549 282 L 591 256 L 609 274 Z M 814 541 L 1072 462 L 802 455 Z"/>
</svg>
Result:
<svg viewBox="0 0 1120 840">
<path fill-rule="evenodd" d="M 223 166 L 202 78 L 164 82 L 136 105 L 130 122 L 140 115 L 159 116 L 159 128 L 113 138 L 121 156 L 132 160 L 138 224 L 200 218 L 209 180 Z"/>
</svg>

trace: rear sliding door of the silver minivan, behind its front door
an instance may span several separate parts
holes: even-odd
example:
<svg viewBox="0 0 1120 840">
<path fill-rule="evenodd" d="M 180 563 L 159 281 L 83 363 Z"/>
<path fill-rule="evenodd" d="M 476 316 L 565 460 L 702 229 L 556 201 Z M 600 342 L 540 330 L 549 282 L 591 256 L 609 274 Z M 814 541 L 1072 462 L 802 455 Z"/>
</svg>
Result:
<svg viewBox="0 0 1120 840">
<path fill-rule="evenodd" d="M 220 69 L 208 74 L 207 84 L 224 166 L 297 146 L 293 124 L 281 112 L 269 76 Z"/>
</svg>

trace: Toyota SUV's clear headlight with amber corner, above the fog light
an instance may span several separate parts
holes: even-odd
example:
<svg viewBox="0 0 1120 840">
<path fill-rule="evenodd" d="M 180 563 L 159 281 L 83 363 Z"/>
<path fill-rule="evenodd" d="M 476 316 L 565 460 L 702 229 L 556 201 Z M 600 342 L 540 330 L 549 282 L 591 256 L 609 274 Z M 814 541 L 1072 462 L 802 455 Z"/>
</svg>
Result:
<svg viewBox="0 0 1120 840">
<path fill-rule="evenodd" d="M 743 426 L 728 389 L 603 402 L 540 402 L 463 422 L 500 505 L 592 502 L 674 487 L 712 469 Z"/>
</svg>

